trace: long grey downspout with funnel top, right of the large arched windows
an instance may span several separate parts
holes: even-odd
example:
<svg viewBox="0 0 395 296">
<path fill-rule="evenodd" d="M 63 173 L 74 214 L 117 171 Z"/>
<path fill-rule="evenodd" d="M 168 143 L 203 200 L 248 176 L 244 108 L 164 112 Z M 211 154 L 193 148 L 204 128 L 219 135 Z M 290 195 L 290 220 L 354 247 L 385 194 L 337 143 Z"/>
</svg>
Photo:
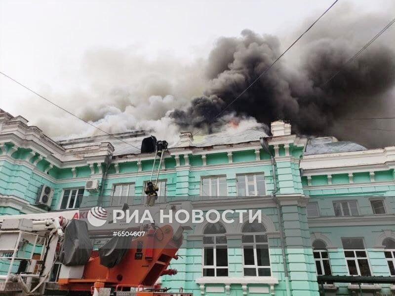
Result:
<svg viewBox="0 0 395 296">
<path fill-rule="evenodd" d="M 269 154 L 270 161 L 272 164 L 274 190 L 272 191 L 271 196 L 272 196 L 272 199 L 276 202 L 276 207 L 277 207 L 278 230 L 280 232 L 281 255 L 282 255 L 282 264 L 284 267 L 286 293 L 287 293 L 287 296 L 290 296 L 291 293 L 290 293 L 290 289 L 289 289 L 288 268 L 287 268 L 287 262 L 286 262 L 286 256 L 285 256 L 285 238 L 284 238 L 284 230 L 283 230 L 283 224 L 282 224 L 282 210 L 281 210 L 280 203 L 279 203 L 278 199 L 276 198 L 276 193 L 278 191 L 277 176 L 276 176 L 276 160 L 275 160 L 272 152 L 269 149 L 268 139 L 269 138 L 261 137 L 259 139 L 259 142 L 261 143 L 263 150 L 265 150 L 265 152 Z"/>
</svg>

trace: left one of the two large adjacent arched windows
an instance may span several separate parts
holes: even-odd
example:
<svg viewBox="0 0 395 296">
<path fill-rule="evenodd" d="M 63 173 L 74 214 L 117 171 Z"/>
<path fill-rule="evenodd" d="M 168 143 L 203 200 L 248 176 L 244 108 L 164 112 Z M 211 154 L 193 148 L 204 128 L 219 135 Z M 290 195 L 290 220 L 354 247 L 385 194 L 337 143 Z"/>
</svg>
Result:
<svg viewBox="0 0 395 296">
<path fill-rule="evenodd" d="M 203 231 L 203 276 L 228 276 L 228 241 L 220 223 L 208 224 Z"/>
</svg>

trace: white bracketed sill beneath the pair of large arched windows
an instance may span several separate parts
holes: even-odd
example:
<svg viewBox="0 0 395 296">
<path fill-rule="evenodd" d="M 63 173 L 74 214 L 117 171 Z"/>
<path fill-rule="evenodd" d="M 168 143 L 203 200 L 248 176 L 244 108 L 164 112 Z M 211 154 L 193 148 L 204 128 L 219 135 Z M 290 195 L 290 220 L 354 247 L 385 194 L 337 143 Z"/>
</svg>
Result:
<svg viewBox="0 0 395 296">
<path fill-rule="evenodd" d="M 220 284 L 225 285 L 224 292 L 226 295 L 230 295 L 231 284 L 240 284 L 243 291 L 243 295 L 247 295 L 247 286 L 249 284 L 266 284 L 269 285 L 271 295 L 275 295 L 274 285 L 278 284 L 278 279 L 272 276 L 242 276 L 242 277 L 199 277 L 195 280 L 199 284 L 200 294 L 205 294 L 206 284 Z M 269 291 L 268 291 L 269 292 Z"/>
</svg>

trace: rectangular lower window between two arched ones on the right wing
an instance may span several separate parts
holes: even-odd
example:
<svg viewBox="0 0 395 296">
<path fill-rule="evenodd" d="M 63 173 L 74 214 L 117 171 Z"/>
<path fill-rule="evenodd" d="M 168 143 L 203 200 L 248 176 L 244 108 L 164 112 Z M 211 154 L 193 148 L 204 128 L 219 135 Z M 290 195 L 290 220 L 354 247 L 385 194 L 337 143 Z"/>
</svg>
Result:
<svg viewBox="0 0 395 296">
<path fill-rule="evenodd" d="M 342 238 L 350 275 L 370 276 L 370 266 L 362 238 Z"/>
</svg>

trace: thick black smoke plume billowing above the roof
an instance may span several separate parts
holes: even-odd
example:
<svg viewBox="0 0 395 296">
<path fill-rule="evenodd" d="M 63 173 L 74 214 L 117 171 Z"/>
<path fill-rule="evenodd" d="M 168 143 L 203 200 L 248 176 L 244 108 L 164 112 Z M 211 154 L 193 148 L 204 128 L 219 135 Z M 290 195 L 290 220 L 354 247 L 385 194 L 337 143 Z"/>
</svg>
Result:
<svg viewBox="0 0 395 296">
<path fill-rule="evenodd" d="M 183 129 L 206 132 L 219 124 L 222 115 L 236 113 L 265 124 L 289 120 L 299 134 L 328 135 L 336 120 L 342 116 L 352 118 L 363 110 L 364 102 L 388 103 L 379 97 L 394 86 L 394 50 L 377 42 L 343 66 L 362 45 L 332 36 L 308 40 L 301 45 L 303 52 L 295 55 L 292 66 L 287 62 L 289 58 L 279 60 L 226 108 L 273 63 L 281 50 L 276 37 L 250 30 L 242 31 L 238 38 L 220 38 L 209 55 L 206 75 L 210 80 L 204 95 L 170 116 Z M 337 136 L 342 138 L 342 132 Z"/>
</svg>

